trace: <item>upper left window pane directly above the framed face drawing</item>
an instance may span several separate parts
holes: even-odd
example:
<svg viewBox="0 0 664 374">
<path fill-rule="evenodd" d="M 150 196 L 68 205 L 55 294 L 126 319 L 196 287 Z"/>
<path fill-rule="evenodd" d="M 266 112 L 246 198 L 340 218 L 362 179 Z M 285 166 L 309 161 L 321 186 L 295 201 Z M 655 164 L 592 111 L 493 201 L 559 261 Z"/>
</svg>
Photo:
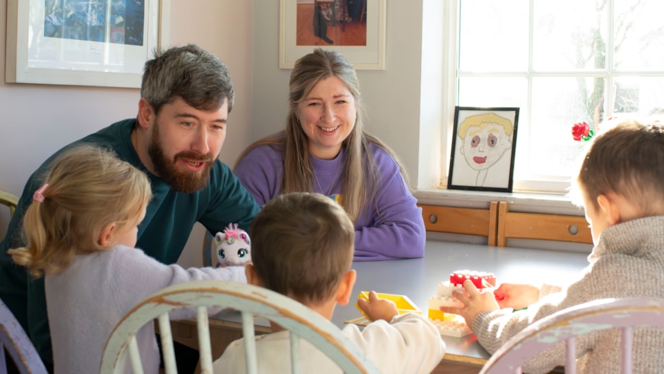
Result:
<svg viewBox="0 0 664 374">
<path fill-rule="evenodd" d="M 525 71 L 528 1 L 460 1 L 459 69 Z"/>
</svg>

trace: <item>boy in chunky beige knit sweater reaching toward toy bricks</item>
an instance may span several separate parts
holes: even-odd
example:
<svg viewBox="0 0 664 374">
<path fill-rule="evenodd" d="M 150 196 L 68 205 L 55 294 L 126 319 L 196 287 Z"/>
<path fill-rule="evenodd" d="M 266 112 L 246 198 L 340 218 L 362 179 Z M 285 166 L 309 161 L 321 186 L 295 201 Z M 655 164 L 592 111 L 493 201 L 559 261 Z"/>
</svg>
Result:
<svg viewBox="0 0 664 374">
<path fill-rule="evenodd" d="M 573 305 L 626 296 L 664 298 L 664 126 L 655 118 L 606 125 L 610 129 L 584 154 L 573 186 L 595 244 L 578 279 L 558 292 L 519 284 L 479 292 L 466 281 L 465 290 L 455 294 L 464 307 L 441 308 L 466 318 L 490 353 L 535 320 Z M 618 373 L 618 338 L 613 330 L 577 338 L 578 373 Z M 564 364 L 562 344 L 536 355 L 523 371 L 547 373 Z M 635 329 L 633 372 L 663 373 L 663 351 L 664 331 Z"/>
</svg>

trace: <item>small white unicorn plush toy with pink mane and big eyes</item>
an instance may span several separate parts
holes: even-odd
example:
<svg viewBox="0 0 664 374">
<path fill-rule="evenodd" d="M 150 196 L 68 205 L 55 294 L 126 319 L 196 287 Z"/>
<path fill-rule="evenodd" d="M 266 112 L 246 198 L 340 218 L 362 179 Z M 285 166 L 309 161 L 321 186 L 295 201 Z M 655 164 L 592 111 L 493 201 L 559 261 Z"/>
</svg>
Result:
<svg viewBox="0 0 664 374">
<path fill-rule="evenodd" d="M 244 266 L 251 262 L 251 242 L 249 234 L 237 228 L 237 224 L 228 224 L 224 232 L 215 234 L 217 246 L 217 267 Z"/>
</svg>

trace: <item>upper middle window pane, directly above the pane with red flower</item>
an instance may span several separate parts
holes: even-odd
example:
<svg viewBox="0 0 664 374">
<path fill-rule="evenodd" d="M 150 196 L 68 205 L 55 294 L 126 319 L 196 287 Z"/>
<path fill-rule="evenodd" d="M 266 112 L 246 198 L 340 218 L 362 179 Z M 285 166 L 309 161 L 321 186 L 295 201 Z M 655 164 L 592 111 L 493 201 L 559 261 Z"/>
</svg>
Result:
<svg viewBox="0 0 664 374">
<path fill-rule="evenodd" d="M 534 1 L 535 71 L 606 68 L 608 12 L 596 3 L 606 1 Z"/>
</svg>

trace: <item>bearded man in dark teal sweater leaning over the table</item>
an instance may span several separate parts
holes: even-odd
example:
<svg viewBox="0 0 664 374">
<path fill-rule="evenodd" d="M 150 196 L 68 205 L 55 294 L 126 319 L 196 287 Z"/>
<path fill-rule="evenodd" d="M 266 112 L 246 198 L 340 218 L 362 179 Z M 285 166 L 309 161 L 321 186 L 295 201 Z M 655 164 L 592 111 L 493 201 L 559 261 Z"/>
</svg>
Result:
<svg viewBox="0 0 664 374">
<path fill-rule="evenodd" d="M 230 223 L 248 231 L 260 209 L 230 168 L 217 159 L 234 97 L 228 67 L 208 51 L 187 45 L 157 52 L 145 63 L 136 118 L 67 145 L 30 176 L 0 243 L 0 299 L 23 325 L 49 369 L 53 358 L 44 278 L 30 278 L 25 268 L 12 263 L 7 250 L 25 245 L 23 213 L 43 185 L 51 162 L 72 145 L 93 143 L 143 170 L 154 197 L 139 226 L 137 248 L 164 264 L 174 264 L 195 222 L 211 233 L 224 231 Z"/>
</svg>

